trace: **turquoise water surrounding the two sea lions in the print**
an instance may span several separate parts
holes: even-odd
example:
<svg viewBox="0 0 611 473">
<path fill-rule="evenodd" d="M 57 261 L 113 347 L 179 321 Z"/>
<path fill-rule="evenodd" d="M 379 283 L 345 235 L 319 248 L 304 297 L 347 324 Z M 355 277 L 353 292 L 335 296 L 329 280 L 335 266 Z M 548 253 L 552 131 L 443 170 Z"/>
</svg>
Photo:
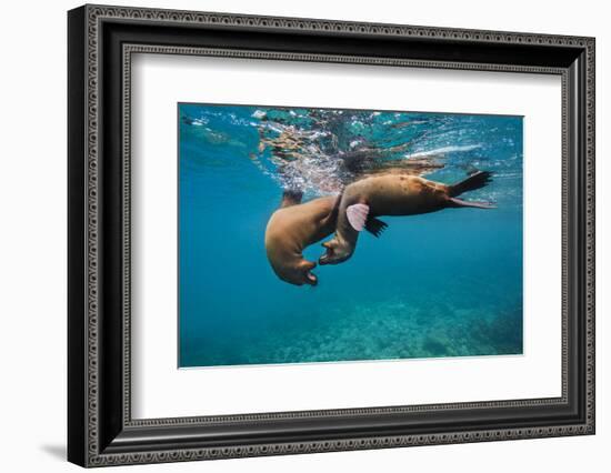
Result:
<svg viewBox="0 0 611 473">
<path fill-rule="evenodd" d="M 522 353 L 522 118 L 179 104 L 179 366 Z M 367 150 L 367 152 L 363 152 Z M 351 154 L 474 169 L 497 209 L 384 217 L 351 260 L 294 286 L 266 225 L 283 188 L 304 200 L 353 178 Z M 304 256 L 317 261 L 323 249 Z"/>
</svg>

